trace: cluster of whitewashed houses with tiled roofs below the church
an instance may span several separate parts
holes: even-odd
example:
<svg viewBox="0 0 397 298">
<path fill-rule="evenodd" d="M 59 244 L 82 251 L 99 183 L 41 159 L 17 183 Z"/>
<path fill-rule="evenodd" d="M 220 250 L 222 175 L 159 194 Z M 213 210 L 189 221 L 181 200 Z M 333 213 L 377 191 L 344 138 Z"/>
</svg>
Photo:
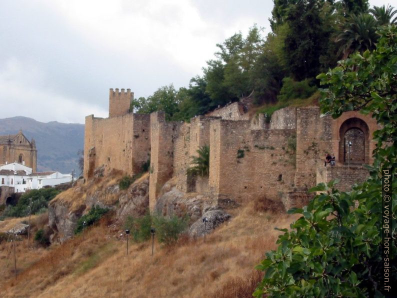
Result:
<svg viewBox="0 0 397 298">
<path fill-rule="evenodd" d="M 30 167 L 17 162 L 0 165 L 0 186 L 14 187 L 14 192 L 55 186 L 71 180 L 71 174 L 58 171 L 32 172 Z"/>
</svg>

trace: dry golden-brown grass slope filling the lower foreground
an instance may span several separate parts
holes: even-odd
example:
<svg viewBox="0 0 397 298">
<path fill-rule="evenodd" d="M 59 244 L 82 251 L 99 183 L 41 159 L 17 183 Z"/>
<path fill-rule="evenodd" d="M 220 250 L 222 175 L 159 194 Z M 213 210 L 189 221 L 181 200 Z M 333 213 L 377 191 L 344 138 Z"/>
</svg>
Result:
<svg viewBox="0 0 397 298">
<path fill-rule="evenodd" d="M 257 213 L 253 207 L 234 210 L 233 218 L 203 239 L 181 238 L 172 247 L 151 242 L 131 243 L 111 232 L 111 218 L 47 250 L 27 251 L 26 240 L 17 243 L 17 278 L 5 258 L 10 243 L 0 249 L 5 268 L 3 296 L 129 296 L 202 297 L 246 296 L 260 273 L 252 271 L 264 252 L 275 248 L 278 231 L 294 219 Z M 111 234 L 113 233 L 113 234 Z M 232 284 L 237 286 L 231 286 Z M 246 286 L 244 286 L 246 284 Z M 223 293 L 223 295 L 221 294 Z"/>
</svg>

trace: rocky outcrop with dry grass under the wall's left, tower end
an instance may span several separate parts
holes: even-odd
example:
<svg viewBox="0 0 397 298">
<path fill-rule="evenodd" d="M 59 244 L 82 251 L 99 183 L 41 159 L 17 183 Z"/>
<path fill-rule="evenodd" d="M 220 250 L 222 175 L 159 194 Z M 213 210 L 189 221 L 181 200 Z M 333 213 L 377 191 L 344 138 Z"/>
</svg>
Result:
<svg viewBox="0 0 397 298">
<path fill-rule="evenodd" d="M 93 206 L 115 210 L 118 217 L 143 215 L 149 206 L 149 177 L 145 174 L 128 189 L 121 190 L 121 175 L 78 182 L 48 204 L 48 224 L 54 231 L 51 242 L 71 237 L 77 220 Z"/>
</svg>

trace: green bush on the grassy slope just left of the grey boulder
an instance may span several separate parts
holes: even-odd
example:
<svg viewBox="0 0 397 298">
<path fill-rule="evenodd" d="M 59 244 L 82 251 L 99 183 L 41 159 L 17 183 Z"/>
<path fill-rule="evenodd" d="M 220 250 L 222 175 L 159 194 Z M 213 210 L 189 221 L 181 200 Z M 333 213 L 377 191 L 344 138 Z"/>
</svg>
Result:
<svg viewBox="0 0 397 298">
<path fill-rule="evenodd" d="M 187 227 L 187 218 L 179 218 L 178 216 L 153 216 L 152 220 L 158 242 L 165 245 L 174 244 Z"/>
</svg>

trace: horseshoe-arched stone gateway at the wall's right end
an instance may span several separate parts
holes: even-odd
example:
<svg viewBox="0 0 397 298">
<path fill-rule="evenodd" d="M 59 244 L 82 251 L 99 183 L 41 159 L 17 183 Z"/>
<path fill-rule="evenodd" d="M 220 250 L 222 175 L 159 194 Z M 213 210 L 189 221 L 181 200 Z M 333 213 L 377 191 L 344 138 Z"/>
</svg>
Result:
<svg viewBox="0 0 397 298">
<path fill-rule="evenodd" d="M 369 127 L 360 118 L 346 119 L 339 128 L 339 162 L 369 163 Z"/>
</svg>

